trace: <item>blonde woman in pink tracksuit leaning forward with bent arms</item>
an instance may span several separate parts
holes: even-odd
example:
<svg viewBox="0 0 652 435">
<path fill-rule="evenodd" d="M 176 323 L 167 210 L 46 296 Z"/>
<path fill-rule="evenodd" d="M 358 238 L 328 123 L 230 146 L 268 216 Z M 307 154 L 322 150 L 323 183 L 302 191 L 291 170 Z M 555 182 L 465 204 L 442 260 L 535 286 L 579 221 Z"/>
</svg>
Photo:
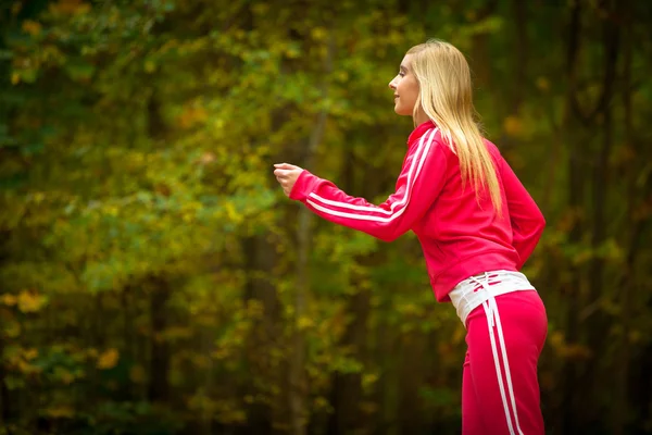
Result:
<svg viewBox="0 0 652 435">
<path fill-rule="evenodd" d="M 301 167 L 276 164 L 291 199 L 319 216 L 383 240 L 412 229 L 438 301 L 467 330 L 462 432 L 543 434 L 537 362 L 546 309 L 518 271 L 546 222 L 498 148 L 474 122 L 471 72 L 450 44 L 413 47 L 390 82 L 394 111 L 412 115 L 396 192 L 379 206 Z"/>
</svg>

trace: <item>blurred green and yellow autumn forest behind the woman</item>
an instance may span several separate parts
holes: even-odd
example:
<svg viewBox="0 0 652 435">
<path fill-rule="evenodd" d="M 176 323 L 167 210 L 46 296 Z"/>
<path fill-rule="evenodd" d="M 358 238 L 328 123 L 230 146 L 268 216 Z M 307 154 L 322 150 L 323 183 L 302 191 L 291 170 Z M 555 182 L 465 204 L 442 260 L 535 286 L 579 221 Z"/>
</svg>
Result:
<svg viewBox="0 0 652 435">
<path fill-rule="evenodd" d="M 437 37 L 548 220 L 549 434 L 652 434 L 652 2 L 3 0 L 0 434 L 455 434 L 421 248 L 289 201 L 392 192 Z"/>
</svg>

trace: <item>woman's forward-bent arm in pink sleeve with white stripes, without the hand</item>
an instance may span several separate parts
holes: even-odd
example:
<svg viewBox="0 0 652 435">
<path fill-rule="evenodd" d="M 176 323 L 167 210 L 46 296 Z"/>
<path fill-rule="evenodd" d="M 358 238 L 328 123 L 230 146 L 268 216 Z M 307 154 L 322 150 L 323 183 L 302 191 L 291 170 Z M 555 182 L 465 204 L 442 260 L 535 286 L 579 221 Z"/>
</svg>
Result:
<svg viewBox="0 0 652 435">
<path fill-rule="evenodd" d="M 290 198 L 330 222 L 391 241 L 425 214 L 443 187 L 447 156 L 436 133 L 428 130 L 410 147 L 396 192 L 379 206 L 351 197 L 308 171 L 299 175 Z"/>
</svg>

